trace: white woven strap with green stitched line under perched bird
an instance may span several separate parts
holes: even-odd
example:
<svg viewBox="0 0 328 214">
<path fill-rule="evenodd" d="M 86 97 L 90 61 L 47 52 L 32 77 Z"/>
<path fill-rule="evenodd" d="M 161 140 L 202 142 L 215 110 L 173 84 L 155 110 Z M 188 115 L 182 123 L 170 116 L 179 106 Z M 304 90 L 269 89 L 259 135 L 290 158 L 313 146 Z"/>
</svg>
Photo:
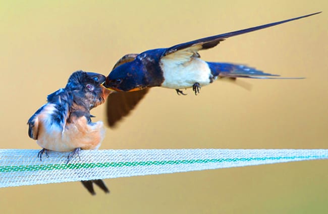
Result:
<svg viewBox="0 0 328 214">
<path fill-rule="evenodd" d="M 60 183 L 328 159 L 328 150 L 90 150 L 69 153 L 0 150 L 0 187 Z"/>
</svg>

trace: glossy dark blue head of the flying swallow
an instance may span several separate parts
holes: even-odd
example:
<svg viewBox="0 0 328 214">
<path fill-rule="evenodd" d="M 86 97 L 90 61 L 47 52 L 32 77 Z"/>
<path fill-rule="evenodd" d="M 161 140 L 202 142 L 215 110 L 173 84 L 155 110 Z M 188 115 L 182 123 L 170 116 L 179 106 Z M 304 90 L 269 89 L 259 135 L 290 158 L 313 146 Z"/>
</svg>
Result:
<svg viewBox="0 0 328 214">
<path fill-rule="evenodd" d="M 147 87 L 143 66 L 136 60 L 121 64 L 108 75 L 103 86 L 117 92 L 139 91 Z"/>
</svg>

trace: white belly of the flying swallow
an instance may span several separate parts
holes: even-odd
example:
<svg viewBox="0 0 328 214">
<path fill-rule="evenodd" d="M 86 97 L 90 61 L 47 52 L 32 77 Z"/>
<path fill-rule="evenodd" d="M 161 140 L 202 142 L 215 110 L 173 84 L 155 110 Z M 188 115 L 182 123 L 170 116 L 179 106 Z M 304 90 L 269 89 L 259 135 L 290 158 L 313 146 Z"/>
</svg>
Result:
<svg viewBox="0 0 328 214">
<path fill-rule="evenodd" d="M 208 64 L 195 58 L 186 63 L 177 63 L 172 59 L 162 59 L 161 68 L 164 82 L 161 87 L 170 89 L 191 88 L 195 83 L 200 86 L 210 84 L 211 72 Z"/>
</svg>

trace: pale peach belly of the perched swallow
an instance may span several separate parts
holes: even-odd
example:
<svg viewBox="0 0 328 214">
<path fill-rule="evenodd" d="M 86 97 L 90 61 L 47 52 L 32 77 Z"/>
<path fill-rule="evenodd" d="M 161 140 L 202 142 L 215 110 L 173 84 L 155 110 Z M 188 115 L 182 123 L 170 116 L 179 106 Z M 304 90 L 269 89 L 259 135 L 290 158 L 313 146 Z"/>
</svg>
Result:
<svg viewBox="0 0 328 214">
<path fill-rule="evenodd" d="M 47 150 L 69 152 L 76 148 L 93 150 L 100 147 L 105 129 L 101 121 L 88 123 L 80 117 L 65 127 L 56 124 L 39 124 L 37 144 Z"/>
</svg>

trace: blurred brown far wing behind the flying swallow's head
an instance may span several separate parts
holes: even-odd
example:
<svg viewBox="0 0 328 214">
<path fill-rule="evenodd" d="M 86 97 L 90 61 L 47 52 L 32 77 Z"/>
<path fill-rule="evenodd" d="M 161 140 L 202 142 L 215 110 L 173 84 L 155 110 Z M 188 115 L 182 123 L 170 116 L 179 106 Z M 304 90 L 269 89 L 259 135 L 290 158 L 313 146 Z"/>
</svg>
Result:
<svg viewBox="0 0 328 214">
<path fill-rule="evenodd" d="M 116 62 L 113 69 L 121 64 L 133 61 L 137 55 L 136 53 L 126 54 Z M 135 92 L 116 92 L 110 94 L 106 103 L 107 124 L 110 127 L 114 127 L 118 121 L 124 116 L 127 116 L 135 108 L 148 91 L 149 89 L 143 89 Z"/>
</svg>

